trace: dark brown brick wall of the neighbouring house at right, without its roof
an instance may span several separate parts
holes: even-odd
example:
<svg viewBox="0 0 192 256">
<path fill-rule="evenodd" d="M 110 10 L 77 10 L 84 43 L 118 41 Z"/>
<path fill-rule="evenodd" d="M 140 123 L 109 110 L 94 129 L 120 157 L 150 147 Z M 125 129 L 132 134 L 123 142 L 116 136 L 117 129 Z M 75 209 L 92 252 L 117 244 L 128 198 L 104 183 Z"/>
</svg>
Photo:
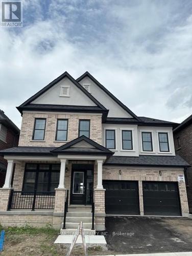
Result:
<svg viewBox="0 0 192 256">
<path fill-rule="evenodd" d="M 178 148 L 177 138 L 180 138 L 180 148 Z M 183 130 L 174 133 L 174 142 L 176 154 L 180 155 L 192 166 L 192 124 L 183 128 Z M 192 213 L 192 167 L 186 170 L 186 189 L 189 211 Z"/>
</svg>

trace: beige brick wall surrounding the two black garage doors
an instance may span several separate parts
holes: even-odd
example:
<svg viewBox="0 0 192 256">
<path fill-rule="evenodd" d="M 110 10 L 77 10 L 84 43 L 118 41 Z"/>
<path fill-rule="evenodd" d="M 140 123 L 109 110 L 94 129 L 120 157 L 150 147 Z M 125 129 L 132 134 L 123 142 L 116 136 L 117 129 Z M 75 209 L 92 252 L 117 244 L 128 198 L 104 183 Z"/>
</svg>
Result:
<svg viewBox="0 0 192 256">
<path fill-rule="evenodd" d="M 119 175 L 119 170 L 122 174 Z M 162 175 L 159 175 L 159 170 Z M 173 181 L 178 182 L 178 175 L 183 174 L 183 168 L 146 168 L 103 166 L 103 180 L 135 180 L 139 182 L 140 215 L 143 215 L 142 181 Z M 188 216 L 188 202 L 185 182 L 178 182 L 182 216 Z"/>
</svg>

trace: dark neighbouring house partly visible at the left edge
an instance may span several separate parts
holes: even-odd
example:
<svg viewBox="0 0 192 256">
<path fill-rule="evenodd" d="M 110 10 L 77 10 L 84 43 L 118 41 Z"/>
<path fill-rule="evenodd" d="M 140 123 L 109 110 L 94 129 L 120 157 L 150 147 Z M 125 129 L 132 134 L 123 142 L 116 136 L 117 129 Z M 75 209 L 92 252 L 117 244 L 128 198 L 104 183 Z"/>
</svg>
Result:
<svg viewBox="0 0 192 256">
<path fill-rule="evenodd" d="M 18 127 L 0 110 L 0 150 L 18 146 Z M 7 160 L 0 156 L 0 187 L 5 183 Z"/>
</svg>

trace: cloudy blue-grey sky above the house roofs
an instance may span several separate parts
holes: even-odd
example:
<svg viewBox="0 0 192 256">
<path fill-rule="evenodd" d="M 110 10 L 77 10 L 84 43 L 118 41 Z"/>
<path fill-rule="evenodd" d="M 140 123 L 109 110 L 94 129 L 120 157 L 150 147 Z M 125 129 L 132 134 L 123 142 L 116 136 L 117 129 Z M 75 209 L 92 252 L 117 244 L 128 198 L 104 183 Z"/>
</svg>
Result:
<svg viewBox="0 0 192 256">
<path fill-rule="evenodd" d="M 191 114 L 191 1 L 25 0 L 23 15 L 0 27 L 0 108 L 18 126 L 15 106 L 64 71 L 89 71 L 138 116 Z"/>
</svg>

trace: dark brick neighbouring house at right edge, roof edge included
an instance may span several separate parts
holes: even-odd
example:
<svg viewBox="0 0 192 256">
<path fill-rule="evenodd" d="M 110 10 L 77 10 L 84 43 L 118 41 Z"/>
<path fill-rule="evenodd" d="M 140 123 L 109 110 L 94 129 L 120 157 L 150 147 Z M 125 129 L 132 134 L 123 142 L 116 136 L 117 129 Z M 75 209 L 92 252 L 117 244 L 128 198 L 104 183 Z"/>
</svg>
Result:
<svg viewBox="0 0 192 256">
<path fill-rule="evenodd" d="M 175 151 L 192 165 L 192 115 L 180 123 L 174 130 Z M 192 168 L 185 170 L 185 182 L 189 212 L 192 213 Z"/>
</svg>

